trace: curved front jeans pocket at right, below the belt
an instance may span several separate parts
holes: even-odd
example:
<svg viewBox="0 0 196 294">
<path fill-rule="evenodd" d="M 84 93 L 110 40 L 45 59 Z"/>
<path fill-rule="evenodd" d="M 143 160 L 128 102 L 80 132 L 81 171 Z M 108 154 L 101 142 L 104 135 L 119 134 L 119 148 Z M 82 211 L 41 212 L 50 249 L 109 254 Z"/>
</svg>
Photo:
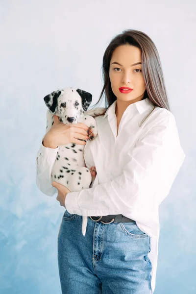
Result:
<svg viewBox="0 0 196 294">
<path fill-rule="evenodd" d="M 120 222 L 123 233 L 131 238 L 147 238 L 148 235 L 143 232 L 136 222 Z"/>
</svg>

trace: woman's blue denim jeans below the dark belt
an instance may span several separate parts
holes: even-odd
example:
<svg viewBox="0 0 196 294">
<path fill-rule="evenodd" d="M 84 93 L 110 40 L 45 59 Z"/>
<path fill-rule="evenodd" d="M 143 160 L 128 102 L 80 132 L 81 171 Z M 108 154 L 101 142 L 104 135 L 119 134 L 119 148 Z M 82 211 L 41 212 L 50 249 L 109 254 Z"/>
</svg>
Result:
<svg viewBox="0 0 196 294">
<path fill-rule="evenodd" d="M 65 211 L 58 234 L 62 294 L 151 294 L 150 237 L 136 222 L 103 224 Z"/>
</svg>

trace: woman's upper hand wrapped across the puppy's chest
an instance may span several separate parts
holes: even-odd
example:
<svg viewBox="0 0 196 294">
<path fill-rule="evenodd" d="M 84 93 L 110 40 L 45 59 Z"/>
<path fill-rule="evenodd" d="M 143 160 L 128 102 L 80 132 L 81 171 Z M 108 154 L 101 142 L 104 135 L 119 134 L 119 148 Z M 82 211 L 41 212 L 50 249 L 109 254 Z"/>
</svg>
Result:
<svg viewBox="0 0 196 294">
<path fill-rule="evenodd" d="M 87 140 L 88 126 L 84 123 L 64 124 L 59 122 L 59 117 L 54 115 L 54 123 L 43 139 L 45 147 L 57 148 L 59 145 L 75 143 L 85 145 L 86 142 L 78 139 Z"/>
</svg>

